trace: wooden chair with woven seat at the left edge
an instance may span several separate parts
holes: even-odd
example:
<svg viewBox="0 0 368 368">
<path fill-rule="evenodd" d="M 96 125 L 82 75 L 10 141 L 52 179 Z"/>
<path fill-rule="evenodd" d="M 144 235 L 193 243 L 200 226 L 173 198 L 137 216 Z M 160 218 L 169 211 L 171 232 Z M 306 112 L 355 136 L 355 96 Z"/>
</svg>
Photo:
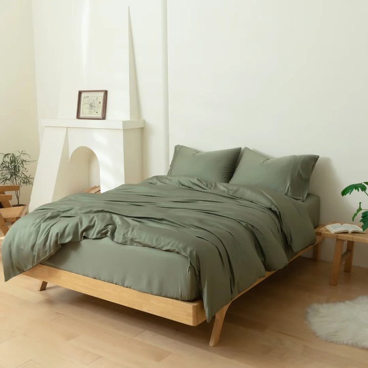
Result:
<svg viewBox="0 0 368 368">
<path fill-rule="evenodd" d="M 0 203 L 3 207 L 0 208 L 0 230 L 4 236 L 9 231 L 8 223 L 14 223 L 28 213 L 28 206 L 12 207 L 10 201 L 13 196 L 5 194 L 5 192 L 17 190 L 19 190 L 19 186 L 0 186 Z"/>
</svg>

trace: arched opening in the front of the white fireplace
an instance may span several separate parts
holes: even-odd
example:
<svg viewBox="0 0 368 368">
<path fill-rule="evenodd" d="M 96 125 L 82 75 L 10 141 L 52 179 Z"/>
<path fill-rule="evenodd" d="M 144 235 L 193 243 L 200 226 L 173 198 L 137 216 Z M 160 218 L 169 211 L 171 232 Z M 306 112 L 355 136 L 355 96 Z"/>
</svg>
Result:
<svg viewBox="0 0 368 368">
<path fill-rule="evenodd" d="M 100 166 L 93 150 L 80 146 L 69 159 L 62 157 L 53 200 L 100 185 Z"/>
</svg>

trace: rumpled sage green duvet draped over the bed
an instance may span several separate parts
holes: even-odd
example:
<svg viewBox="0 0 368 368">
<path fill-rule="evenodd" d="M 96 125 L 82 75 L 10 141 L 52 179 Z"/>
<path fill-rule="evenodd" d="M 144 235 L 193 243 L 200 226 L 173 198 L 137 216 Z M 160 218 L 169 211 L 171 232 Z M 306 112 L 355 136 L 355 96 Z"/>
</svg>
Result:
<svg viewBox="0 0 368 368">
<path fill-rule="evenodd" d="M 315 241 L 300 202 L 268 189 L 156 176 L 40 206 L 2 244 L 5 281 L 83 238 L 177 252 L 196 272 L 208 320 L 286 254 Z M 144 269 L 142 269 L 144 272 Z"/>
</svg>

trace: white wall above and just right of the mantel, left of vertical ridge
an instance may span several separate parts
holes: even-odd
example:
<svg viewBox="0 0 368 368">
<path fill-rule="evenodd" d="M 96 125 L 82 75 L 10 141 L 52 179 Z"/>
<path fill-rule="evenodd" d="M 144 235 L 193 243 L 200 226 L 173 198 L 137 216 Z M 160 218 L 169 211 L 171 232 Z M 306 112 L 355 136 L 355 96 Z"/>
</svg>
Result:
<svg viewBox="0 0 368 368">
<path fill-rule="evenodd" d="M 84 89 L 108 90 L 106 119 L 130 118 L 130 7 L 138 109 L 132 118 L 146 120 L 144 176 L 165 173 L 162 1 L 33 0 L 32 4 L 39 119 L 74 119 L 78 90 Z"/>
</svg>

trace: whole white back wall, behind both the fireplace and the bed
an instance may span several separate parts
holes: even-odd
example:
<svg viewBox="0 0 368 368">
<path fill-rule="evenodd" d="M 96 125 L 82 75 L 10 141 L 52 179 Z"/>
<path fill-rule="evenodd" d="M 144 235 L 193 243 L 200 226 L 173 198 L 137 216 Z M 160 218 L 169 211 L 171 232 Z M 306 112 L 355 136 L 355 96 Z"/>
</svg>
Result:
<svg viewBox="0 0 368 368">
<path fill-rule="evenodd" d="M 339 193 L 367 179 L 357 164 L 368 118 L 365 0 L 176 0 L 167 18 L 165 0 L 32 3 L 40 119 L 74 118 L 87 88 L 108 89 L 106 118 L 127 115 L 129 5 L 145 177 L 166 172 L 169 132 L 171 153 L 180 143 L 319 154 L 311 192 L 321 222 L 351 220 L 361 196 Z M 368 248 L 356 247 L 354 263 L 368 267 Z"/>
</svg>

